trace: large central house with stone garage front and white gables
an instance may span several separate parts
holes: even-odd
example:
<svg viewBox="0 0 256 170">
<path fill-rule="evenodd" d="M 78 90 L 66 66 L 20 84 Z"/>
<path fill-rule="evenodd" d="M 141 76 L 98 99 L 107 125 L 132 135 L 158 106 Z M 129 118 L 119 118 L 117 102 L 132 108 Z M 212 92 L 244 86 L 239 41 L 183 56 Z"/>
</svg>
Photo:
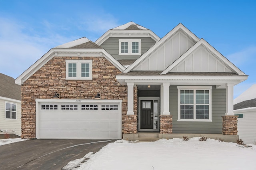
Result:
<svg viewBox="0 0 256 170">
<path fill-rule="evenodd" d="M 128 22 L 50 49 L 15 80 L 22 137 L 236 140 L 233 88 L 247 77 L 182 24 L 160 39 Z"/>
</svg>

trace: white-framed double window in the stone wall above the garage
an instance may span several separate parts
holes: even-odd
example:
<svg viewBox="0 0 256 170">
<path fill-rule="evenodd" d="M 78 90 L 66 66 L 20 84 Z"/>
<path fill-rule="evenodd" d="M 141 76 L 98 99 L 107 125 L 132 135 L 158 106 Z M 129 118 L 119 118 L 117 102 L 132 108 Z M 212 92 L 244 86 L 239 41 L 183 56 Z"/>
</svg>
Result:
<svg viewBox="0 0 256 170">
<path fill-rule="evenodd" d="M 92 80 L 92 60 L 67 59 L 66 79 Z"/>
</svg>

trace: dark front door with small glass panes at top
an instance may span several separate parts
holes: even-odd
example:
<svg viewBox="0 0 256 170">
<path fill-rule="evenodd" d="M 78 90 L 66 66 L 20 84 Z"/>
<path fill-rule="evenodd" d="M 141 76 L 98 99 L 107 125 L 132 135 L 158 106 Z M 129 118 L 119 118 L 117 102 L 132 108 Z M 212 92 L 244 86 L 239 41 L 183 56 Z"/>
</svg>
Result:
<svg viewBox="0 0 256 170">
<path fill-rule="evenodd" d="M 153 128 L 153 106 L 152 100 L 140 101 L 140 128 L 152 129 Z"/>
</svg>

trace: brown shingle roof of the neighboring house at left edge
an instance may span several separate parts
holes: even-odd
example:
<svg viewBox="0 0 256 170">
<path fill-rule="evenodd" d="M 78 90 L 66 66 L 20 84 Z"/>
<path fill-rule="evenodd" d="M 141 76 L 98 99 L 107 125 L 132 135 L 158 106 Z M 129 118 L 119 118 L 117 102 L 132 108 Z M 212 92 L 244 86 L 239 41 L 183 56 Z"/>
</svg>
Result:
<svg viewBox="0 0 256 170">
<path fill-rule="evenodd" d="M 0 96 L 21 100 L 21 86 L 14 83 L 14 78 L 0 73 Z"/>
</svg>

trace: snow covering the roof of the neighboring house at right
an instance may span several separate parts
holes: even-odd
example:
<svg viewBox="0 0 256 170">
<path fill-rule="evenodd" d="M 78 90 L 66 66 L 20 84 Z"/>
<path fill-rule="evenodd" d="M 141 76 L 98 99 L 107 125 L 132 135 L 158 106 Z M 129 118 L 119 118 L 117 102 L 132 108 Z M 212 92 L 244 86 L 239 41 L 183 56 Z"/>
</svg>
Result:
<svg viewBox="0 0 256 170">
<path fill-rule="evenodd" d="M 251 100 L 256 98 L 256 84 L 252 85 L 249 89 L 244 91 L 241 95 L 234 99 L 234 105 L 242 101 Z"/>
</svg>

